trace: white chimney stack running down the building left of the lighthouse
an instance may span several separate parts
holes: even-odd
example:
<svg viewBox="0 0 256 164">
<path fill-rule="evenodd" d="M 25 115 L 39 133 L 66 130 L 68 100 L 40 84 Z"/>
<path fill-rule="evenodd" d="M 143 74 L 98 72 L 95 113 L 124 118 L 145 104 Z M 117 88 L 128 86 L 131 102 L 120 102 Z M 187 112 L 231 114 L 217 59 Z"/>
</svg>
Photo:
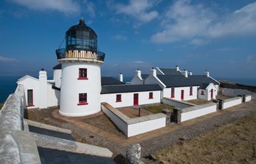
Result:
<svg viewBox="0 0 256 164">
<path fill-rule="evenodd" d="M 39 109 L 47 108 L 47 72 L 39 71 Z"/>
</svg>

